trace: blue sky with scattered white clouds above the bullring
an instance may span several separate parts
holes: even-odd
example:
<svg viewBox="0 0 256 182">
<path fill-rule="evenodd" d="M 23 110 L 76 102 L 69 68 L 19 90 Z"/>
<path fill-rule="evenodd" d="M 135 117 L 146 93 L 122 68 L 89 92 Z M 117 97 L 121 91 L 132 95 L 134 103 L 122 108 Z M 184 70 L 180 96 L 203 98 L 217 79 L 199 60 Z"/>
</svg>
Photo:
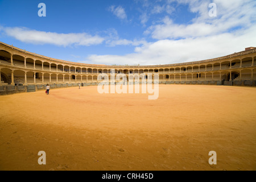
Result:
<svg viewBox="0 0 256 182">
<path fill-rule="evenodd" d="M 255 10 L 255 0 L 0 0 L 0 41 L 79 63 L 199 61 L 256 47 Z"/>
</svg>

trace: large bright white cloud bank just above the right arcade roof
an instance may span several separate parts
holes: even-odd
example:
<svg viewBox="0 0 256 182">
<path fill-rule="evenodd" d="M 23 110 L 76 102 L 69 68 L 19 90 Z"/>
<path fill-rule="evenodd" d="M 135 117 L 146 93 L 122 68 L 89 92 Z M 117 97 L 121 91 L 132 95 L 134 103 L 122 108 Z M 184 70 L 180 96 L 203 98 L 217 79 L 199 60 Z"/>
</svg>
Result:
<svg viewBox="0 0 256 182">
<path fill-rule="evenodd" d="M 256 47 L 256 26 L 248 30 L 237 30 L 220 35 L 187 38 L 180 40 L 158 40 L 136 47 L 134 53 L 124 56 L 91 55 L 85 63 L 119 65 L 156 65 L 199 61 L 244 51 Z"/>
</svg>

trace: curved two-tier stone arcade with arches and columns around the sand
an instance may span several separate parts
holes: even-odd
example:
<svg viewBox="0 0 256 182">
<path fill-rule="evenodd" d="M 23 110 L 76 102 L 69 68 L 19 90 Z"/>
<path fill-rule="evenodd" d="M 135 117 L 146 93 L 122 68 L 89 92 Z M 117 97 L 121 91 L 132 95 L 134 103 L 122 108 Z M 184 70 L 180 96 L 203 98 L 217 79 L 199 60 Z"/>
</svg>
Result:
<svg viewBox="0 0 256 182">
<path fill-rule="evenodd" d="M 255 85 L 256 48 L 248 51 L 214 59 L 189 63 L 147 65 L 147 66 L 110 66 L 81 64 L 53 59 L 27 52 L 0 42 L 0 72 L 3 85 L 45 85 L 45 84 L 97 84 L 98 75 L 106 73 L 110 78 L 123 73 L 129 80 L 130 75 L 159 75 L 160 83 L 168 84 L 224 84 Z M 134 80 L 129 80 L 134 81 Z"/>
</svg>

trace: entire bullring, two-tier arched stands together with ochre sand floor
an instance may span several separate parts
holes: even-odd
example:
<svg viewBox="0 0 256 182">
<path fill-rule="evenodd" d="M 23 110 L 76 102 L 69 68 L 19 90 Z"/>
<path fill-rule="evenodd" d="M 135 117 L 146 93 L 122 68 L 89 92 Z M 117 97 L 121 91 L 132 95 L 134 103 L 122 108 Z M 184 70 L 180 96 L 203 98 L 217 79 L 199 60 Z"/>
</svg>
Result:
<svg viewBox="0 0 256 182">
<path fill-rule="evenodd" d="M 247 48 L 191 63 L 92 65 L 1 43 L 0 169 L 255 170 L 255 59 Z M 158 74 L 159 97 L 98 93 L 101 73 L 140 90 L 130 76 Z"/>
</svg>

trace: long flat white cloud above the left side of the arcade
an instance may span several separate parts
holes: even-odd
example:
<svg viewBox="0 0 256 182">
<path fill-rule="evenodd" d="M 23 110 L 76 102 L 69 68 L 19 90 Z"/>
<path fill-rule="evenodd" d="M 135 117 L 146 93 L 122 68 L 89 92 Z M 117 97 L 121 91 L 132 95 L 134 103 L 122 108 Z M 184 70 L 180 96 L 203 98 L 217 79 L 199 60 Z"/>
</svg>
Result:
<svg viewBox="0 0 256 182">
<path fill-rule="evenodd" d="M 32 44 L 53 44 L 56 46 L 91 46 L 101 44 L 104 38 L 95 35 L 89 35 L 86 33 L 70 33 L 70 34 L 58 34 L 56 32 L 44 32 L 37 30 L 30 30 L 25 27 L 4 27 L 2 31 L 6 35 L 11 36 L 21 42 Z"/>
</svg>

